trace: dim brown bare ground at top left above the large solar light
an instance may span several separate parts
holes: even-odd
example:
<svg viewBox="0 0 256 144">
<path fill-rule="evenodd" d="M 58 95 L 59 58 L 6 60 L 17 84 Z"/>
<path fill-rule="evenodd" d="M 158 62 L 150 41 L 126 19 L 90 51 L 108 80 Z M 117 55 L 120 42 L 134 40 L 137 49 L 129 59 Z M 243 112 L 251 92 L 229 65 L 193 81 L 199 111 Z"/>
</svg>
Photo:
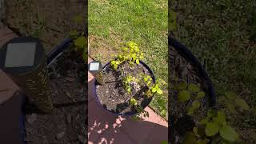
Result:
<svg viewBox="0 0 256 144">
<path fill-rule="evenodd" d="M 74 17 L 81 15 L 82 22 Z M 86 28 L 86 3 L 83 0 L 8 0 L 6 25 L 22 35 L 42 40 L 46 53 L 68 37 L 71 30 Z"/>
</svg>

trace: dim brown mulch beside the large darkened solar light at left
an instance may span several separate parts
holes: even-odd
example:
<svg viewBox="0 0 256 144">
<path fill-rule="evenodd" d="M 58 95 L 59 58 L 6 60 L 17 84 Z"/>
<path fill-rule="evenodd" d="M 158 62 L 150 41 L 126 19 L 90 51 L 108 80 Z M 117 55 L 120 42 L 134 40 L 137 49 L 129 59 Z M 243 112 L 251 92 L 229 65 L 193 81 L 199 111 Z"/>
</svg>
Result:
<svg viewBox="0 0 256 144">
<path fill-rule="evenodd" d="M 66 51 L 49 67 L 54 112 L 26 114 L 28 143 L 85 143 L 86 67 L 81 54 Z"/>
</svg>

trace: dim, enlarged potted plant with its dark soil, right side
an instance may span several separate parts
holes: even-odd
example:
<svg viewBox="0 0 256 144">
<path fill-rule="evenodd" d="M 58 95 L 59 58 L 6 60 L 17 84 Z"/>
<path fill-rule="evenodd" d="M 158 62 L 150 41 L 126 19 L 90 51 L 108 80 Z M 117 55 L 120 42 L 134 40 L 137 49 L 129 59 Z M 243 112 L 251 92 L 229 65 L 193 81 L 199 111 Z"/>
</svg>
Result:
<svg viewBox="0 0 256 144">
<path fill-rule="evenodd" d="M 212 106 L 206 82 L 197 68 L 170 48 L 170 142 L 243 143 L 232 120 L 249 106 L 238 95 L 226 92 Z"/>
</svg>

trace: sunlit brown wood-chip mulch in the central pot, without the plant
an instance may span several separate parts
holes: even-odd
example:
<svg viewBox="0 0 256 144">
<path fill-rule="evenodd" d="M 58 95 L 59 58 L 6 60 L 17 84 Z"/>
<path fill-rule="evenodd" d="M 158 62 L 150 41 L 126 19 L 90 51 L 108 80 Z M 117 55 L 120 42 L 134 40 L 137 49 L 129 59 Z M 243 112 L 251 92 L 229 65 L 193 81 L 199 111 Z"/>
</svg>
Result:
<svg viewBox="0 0 256 144">
<path fill-rule="evenodd" d="M 131 94 L 128 94 L 122 85 L 123 76 L 131 74 L 138 78 L 138 74 L 140 73 L 150 75 L 148 70 L 142 64 L 134 67 L 124 64 L 123 73 L 120 68 L 118 70 L 113 70 L 110 66 L 106 66 L 106 69 L 103 70 L 103 77 L 106 85 L 98 85 L 96 91 L 102 106 L 104 106 L 106 110 L 113 111 L 114 113 L 136 113 L 133 106 L 130 106 L 129 104 L 129 100 L 133 96 L 137 99 L 138 105 L 143 108 L 149 105 L 151 98 L 142 97 L 146 90 L 148 90 L 148 87 L 137 87 L 138 83 L 134 83 L 134 88 Z"/>
</svg>

